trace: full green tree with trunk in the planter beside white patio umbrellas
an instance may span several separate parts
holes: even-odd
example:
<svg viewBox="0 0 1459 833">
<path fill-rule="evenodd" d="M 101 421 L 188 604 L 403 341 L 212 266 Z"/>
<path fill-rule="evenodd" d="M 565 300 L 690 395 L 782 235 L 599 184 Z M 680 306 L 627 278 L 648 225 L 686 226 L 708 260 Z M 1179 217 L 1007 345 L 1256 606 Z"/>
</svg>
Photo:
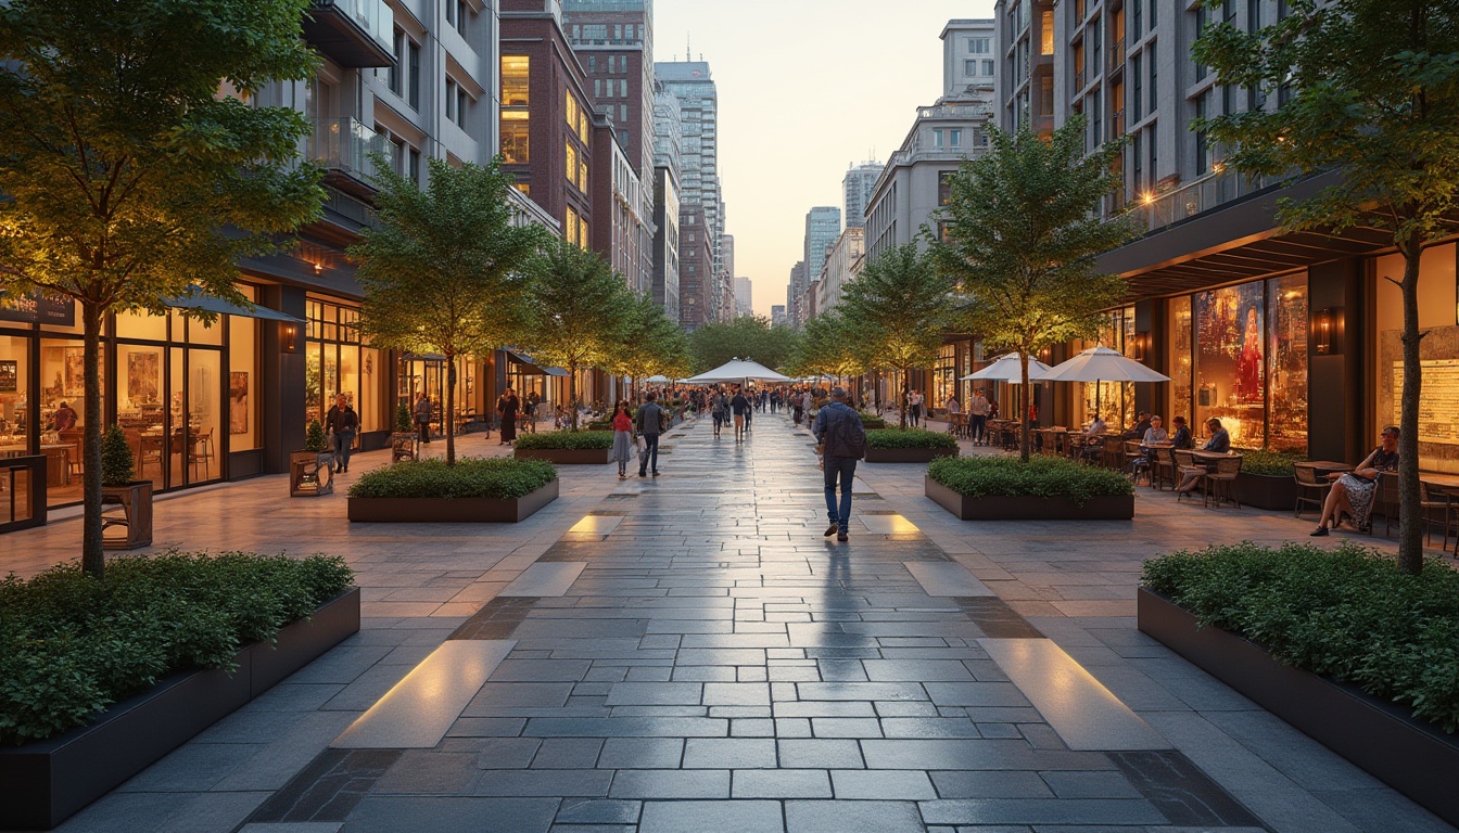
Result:
<svg viewBox="0 0 1459 833">
<path fill-rule="evenodd" d="M 1084 117 L 1049 140 L 1024 127 L 989 130 L 989 150 L 963 162 L 941 209 L 945 238 L 931 258 L 961 296 L 963 325 L 991 349 L 1029 357 L 1099 334 L 1100 312 L 1115 306 L 1126 282 L 1102 274 L 1094 258 L 1132 236 L 1122 219 L 1100 219 L 1100 200 L 1119 188 L 1112 165 L 1122 144 L 1084 150 Z M 1021 407 L 1021 457 L 1029 460 L 1029 408 Z"/>
</svg>

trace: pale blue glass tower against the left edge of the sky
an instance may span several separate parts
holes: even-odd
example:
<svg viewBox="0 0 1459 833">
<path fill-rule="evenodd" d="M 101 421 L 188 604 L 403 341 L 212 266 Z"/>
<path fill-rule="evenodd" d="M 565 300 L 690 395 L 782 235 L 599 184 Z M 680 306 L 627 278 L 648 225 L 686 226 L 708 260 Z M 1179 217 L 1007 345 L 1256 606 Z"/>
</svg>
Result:
<svg viewBox="0 0 1459 833">
<path fill-rule="evenodd" d="M 654 74 L 664 92 L 678 99 L 680 134 L 683 153 L 680 158 L 680 204 L 684 209 L 696 206 L 703 216 L 696 232 L 702 232 L 709 244 L 712 267 L 709 274 L 697 276 L 705 283 L 708 309 L 699 308 L 694 315 L 683 315 L 686 327 L 713 321 L 725 309 L 727 293 L 732 296 L 734 286 L 724 279 L 724 251 L 721 238 L 724 226 L 724 197 L 719 191 L 719 93 L 709 64 L 705 61 L 661 61 L 654 64 Z M 687 217 L 686 217 L 687 219 Z M 680 222 L 680 239 L 687 233 L 689 223 Z M 686 258 L 680 258 L 687 266 Z M 681 273 L 680 279 L 686 276 Z M 681 293 L 683 299 L 683 293 Z M 687 311 L 687 308 L 681 309 Z"/>
</svg>

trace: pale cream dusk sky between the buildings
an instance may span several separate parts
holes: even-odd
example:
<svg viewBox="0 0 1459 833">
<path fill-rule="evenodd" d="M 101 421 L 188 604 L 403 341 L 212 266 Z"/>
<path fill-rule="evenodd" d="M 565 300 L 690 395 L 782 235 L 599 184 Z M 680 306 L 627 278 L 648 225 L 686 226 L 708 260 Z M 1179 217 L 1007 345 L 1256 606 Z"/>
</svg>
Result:
<svg viewBox="0 0 1459 833">
<path fill-rule="evenodd" d="M 840 181 L 886 162 L 943 89 L 943 26 L 994 0 L 655 0 L 658 61 L 709 61 L 735 274 L 754 312 L 785 303 L 805 212 L 842 207 Z M 845 223 L 845 219 L 842 220 Z"/>
</svg>

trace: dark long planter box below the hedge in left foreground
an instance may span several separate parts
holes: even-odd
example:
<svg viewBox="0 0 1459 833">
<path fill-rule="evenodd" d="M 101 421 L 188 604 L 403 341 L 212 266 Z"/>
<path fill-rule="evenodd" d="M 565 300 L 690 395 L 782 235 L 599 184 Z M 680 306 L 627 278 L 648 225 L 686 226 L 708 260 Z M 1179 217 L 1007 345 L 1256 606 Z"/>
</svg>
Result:
<svg viewBox="0 0 1459 833">
<path fill-rule="evenodd" d="M 359 629 L 360 591 L 352 588 L 282 629 L 276 645 L 239 651 L 232 674 L 175 674 L 115 703 L 95 724 L 0 747 L 0 830 L 55 827 Z"/>
</svg>

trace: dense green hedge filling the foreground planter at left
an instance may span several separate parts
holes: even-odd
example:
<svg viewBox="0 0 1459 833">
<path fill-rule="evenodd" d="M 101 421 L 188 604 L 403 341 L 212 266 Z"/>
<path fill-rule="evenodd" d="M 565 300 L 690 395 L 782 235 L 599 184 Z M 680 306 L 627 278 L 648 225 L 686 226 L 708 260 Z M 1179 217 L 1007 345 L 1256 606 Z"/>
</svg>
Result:
<svg viewBox="0 0 1459 833">
<path fill-rule="evenodd" d="M 233 655 L 344 592 L 340 559 L 179 553 L 0 579 L 0 744 L 64 732 L 159 678 Z"/>
</svg>

